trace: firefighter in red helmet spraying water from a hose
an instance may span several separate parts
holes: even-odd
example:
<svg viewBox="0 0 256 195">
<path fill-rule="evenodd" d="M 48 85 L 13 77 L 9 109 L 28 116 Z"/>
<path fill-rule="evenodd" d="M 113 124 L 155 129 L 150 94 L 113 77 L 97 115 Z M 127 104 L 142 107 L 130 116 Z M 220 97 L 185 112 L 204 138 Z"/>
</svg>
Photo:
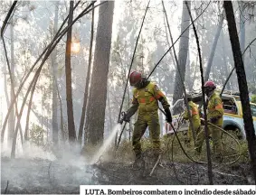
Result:
<svg viewBox="0 0 256 195">
<path fill-rule="evenodd" d="M 166 121 L 168 123 L 172 122 L 172 116 L 169 109 L 170 105 L 167 102 L 166 96 L 156 86 L 156 84 L 146 78 L 142 78 L 141 73 L 133 71 L 129 75 L 129 83 L 134 87 L 133 99 L 132 106 L 124 116 L 124 121 L 128 122 L 130 117 L 138 110 L 137 122 L 135 123 L 132 135 L 133 151 L 136 155 L 136 159 L 141 159 L 140 139 L 144 135 L 148 126 L 153 151 L 157 158 L 160 153 L 158 101 L 161 102 L 165 109 Z"/>
</svg>

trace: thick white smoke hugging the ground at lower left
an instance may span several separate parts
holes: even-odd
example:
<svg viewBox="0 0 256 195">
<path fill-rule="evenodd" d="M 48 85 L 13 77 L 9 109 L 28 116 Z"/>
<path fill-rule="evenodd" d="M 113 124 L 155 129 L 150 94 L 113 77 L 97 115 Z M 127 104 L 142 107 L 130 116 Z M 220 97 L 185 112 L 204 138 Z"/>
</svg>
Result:
<svg viewBox="0 0 256 195">
<path fill-rule="evenodd" d="M 11 147 L 1 151 L 1 191 L 7 193 L 79 193 L 80 185 L 98 184 L 98 172 L 81 156 L 77 145 L 50 152 L 33 144 L 24 145 L 15 159 Z"/>
</svg>

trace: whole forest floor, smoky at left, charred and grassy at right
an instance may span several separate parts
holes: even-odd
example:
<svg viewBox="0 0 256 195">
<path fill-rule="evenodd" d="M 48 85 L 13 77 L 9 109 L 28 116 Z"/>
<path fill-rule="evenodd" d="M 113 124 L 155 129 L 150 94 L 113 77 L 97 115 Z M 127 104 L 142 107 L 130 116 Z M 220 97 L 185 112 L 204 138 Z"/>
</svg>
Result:
<svg viewBox="0 0 256 195">
<path fill-rule="evenodd" d="M 182 139 L 182 135 L 181 135 Z M 79 194 L 80 185 L 202 185 L 209 184 L 207 164 L 192 163 L 185 156 L 176 141 L 170 144 L 172 137 L 162 140 L 166 152 L 161 158 L 161 165 L 149 176 L 155 162 L 147 140 L 143 141 L 145 163 L 135 164 L 130 142 L 123 142 L 119 149 L 109 147 L 108 152 L 100 156 L 97 163 L 89 165 L 99 148 L 89 148 L 76 154 L 63 150 L 62 155 L 47 157 L 40 151 L 30 157 L 11 159 L 1 157 L 1 193 L 18 194 Z M 226 144 L 225 144 L 226 143 Z M 182 143 L 185 145 L 185 143 Z M 247 144 L 242 141 L 240 158 L 233 157 L 238 149 L 232 140 L 223 139 L 226 160 L 223 163 L 213 161 L 213 183 L 246 185 L 253 184 L 251 164 Z M 173 149 L 170 149 L 170 146 Z M 231 147 L 232 146 L 232 147 Z M 197 161 L 206 162 L 205 146 L 200 156 L 194 155 L 192 146 L 185 146 L 185 151 Z M 40 157 L 40 158 L 39 158 Z M 42 158 L 41 158 L 42 157 Z M 44 157 L 44 159 L 43 159 Z M 48 159 L 45 159 L 45 158 Z M 173 158 L 172 158 L 173 157 Z M 230 164 L 234 159 L 235 163 Z M 230 163 L 229 163 L 230 162 Z"/>
</svg>

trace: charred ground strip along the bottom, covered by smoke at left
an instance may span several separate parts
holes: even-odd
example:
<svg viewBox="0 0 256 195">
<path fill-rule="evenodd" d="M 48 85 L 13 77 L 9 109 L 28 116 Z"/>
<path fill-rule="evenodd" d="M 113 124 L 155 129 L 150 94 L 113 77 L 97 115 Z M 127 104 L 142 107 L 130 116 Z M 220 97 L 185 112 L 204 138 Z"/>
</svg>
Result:
<svg viewBox="0 0 256 195">
<path fill-rule="evenodd" d="M 144 168 L 143 168 L 144 167 Z M 80 185 L 182 185 L 208 184 L 207 167 L 195 163 L 163 163 L 149 176 L 153 163 L 63 162 L 43 159 L 1 159 L 1 193 L 80 193 Z M 250 184 L 249 164 L 213 167 L 214 184 Z M 8 181 L 8 185 L 7 185 Z"/>
</svg>

